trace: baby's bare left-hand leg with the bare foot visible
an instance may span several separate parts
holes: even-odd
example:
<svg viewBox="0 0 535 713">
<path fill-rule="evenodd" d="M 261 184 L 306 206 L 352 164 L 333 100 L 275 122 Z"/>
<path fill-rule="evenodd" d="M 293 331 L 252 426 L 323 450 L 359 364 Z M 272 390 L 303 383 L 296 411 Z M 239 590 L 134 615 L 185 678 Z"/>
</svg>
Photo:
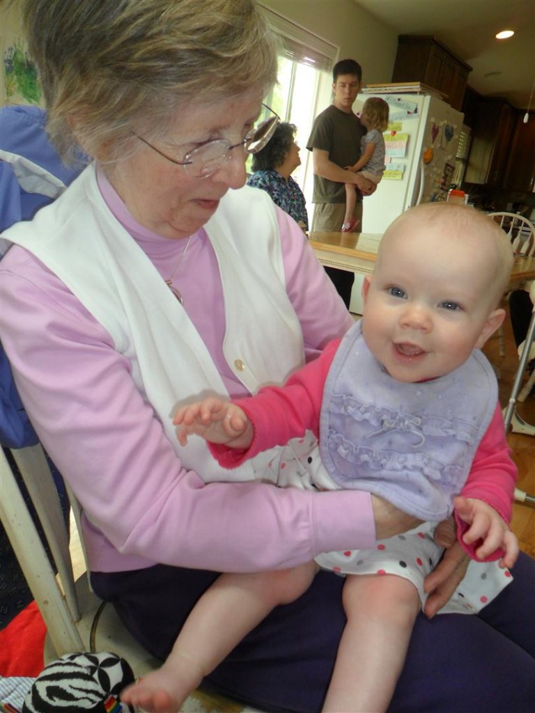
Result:
<svg viewBox="0 0 535 713">
<path fill-rule="evenodd" d="M 121 693 L 153 713 L 174 713 L 233 648 L 279 604 L 309 588 L 315 563 L 291 570 L 221 575 L 200 597 L 163 666 Z"/>
</svg>

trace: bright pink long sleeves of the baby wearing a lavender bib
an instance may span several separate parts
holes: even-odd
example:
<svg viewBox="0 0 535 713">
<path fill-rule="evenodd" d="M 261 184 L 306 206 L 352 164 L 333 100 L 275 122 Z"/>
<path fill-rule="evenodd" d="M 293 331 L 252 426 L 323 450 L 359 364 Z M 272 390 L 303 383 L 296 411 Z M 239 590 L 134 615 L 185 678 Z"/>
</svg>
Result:
<svg viewBox="0 0 535 713">
<path fill-rule="evenodd" d="M 235 468 L 247 458 L 253 458 L 267 448 L 302 436 L 306 430 L 319 436 L 323 387 L 339 344 L 340 339 L 328 344 L 319 359 L 297 371 L 282 388 L 268 386 L 260 389 L 253 399 L 238 401 L 253 424 L 253 442 L 246 450 L 210 444 L 210 451 L 221 466 Z M 504 421 L 497 404 L 461 494 L 466 498 L 477 498 L 488 503 L 509 523 L 515 481 L 516 466 L 511 461 Z M 474 553 L 479 543 L 467 546 L 461 539 L 467 528 L 467 523 L 457 516 L 459 542 L 464 550 L 476 559 Z M 495 560 L 502 555 L 500 550 L 489 559 Z"/>
</svg>

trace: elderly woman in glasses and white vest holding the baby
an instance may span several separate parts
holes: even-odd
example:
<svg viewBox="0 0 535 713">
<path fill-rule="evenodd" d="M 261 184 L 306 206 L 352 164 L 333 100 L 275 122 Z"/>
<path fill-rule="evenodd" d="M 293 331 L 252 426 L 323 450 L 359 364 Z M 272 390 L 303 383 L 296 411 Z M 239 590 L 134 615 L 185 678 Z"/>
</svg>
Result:
<svg viewBox="0 0 535 713">
<path fill-rule="evenodd" d="M 93 163 L 6 232 L 2 340 L 83 508 L 93 588 L 163 659 L 218 572 L 367 548 L 414 520 L 368 493 L 253 482 L 248 465 L 241 483 L 210 483 L 204 444 L 175 438 L 176 401 L 282 383 L 352 323 L 297 224 L 243 187 L 245 154 L 276 121 L 255 124 L 277 67 L 255 4 L 30 0 L 25 16 L 51 137 Z M 452 545 L 427 580 L 428 614 L 464 568 Z M 534 563 L 514 575 L 480 617 L 419 616 L 392 711 L 530 709 Z M 263 709 L 320 709 L 341 590 L 320 573 L 210 683 Z"/>
</svg>

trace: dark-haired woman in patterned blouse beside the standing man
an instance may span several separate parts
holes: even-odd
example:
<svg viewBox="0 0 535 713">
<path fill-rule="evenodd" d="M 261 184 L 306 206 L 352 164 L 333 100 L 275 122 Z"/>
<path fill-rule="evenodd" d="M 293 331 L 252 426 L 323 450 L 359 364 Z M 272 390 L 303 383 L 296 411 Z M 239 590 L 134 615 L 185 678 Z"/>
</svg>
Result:
<svg viewBox="0 0 535 713">
<path fill-rule="evenodd" d="M 303 230 L 308 230 L 305 196 L 291 174 L 301 165 L 300 148 L 295 143 L 297 126 L 287 122 L 277 125 L 275 133 L 265 147 L 253 155 L 255 173 L 247 179 L 247 185 L 262 188 L 273 202 L 285 210 Z"/>
</svg>

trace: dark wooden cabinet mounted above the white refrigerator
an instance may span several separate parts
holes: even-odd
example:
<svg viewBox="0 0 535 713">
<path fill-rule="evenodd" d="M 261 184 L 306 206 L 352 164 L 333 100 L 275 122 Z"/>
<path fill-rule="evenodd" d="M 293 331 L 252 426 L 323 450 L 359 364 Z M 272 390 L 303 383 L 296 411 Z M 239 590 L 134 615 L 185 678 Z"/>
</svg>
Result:
<svg viewBox="0 0 535 713">
<path fill-rule="evenodd" d="M 399 35 L 392 82 L 419 81 L 437 89 L 449 106 L 461 109 L 472 67 L 432 35 Z"/>
</svg>

